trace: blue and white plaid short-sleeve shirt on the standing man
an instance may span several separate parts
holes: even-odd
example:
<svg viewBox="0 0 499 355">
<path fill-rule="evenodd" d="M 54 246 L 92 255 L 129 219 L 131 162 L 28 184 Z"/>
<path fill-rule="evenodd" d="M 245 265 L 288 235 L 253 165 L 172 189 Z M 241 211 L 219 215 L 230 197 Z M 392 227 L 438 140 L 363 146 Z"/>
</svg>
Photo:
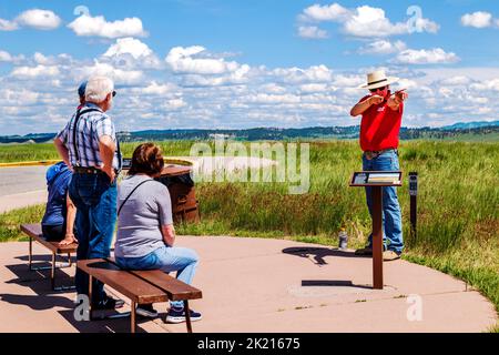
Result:
<svg viewBox="0 0 499 355">
<path fill-rule="evenodd" d="M 99 151 L 99 139 L 103 135 L 109 135 L 116 144 L 116 150 L 113 158 L 113 168 L 115 170 L 121 169 L 121 152 L 120 144 L 116 139 L 116 132 L 114 130 L 114 123 L 111 118 L 106 115 L 102 110 L 94 103 L 85 103 L 80 111 L 96 109 L 96 111 L 91 111 L 80 115 L 77 126 L 77 149 L 80 158 L 80 163 L 77 162 L 77 154 L 74 152 L 73 142 L 73 131 L 74 121 L 77 119 L 77 113 L 73 114 L 71 120 L 64 126 L 62 131 L 58 133 L 58 138 L 64 143 L 69 151 L 70 162 L 73 166 L 83 168 L 101 168 L 102 159 Z"/>
</svg>

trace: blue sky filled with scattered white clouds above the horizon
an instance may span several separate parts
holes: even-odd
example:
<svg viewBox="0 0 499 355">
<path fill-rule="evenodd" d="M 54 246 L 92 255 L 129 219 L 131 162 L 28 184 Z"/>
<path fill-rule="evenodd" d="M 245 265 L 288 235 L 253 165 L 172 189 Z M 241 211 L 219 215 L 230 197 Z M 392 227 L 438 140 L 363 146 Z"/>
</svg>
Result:
<svg viewBox="0 0 499 355">
<path fill-rule="evenodd" d="M 58 131 L 92 74 L 119 130 L 356 124 L 374 69 L 404 125 L 497 120 L 498 40 L 496 1 L 1 0 L 0 135 Z"/>
</svg>

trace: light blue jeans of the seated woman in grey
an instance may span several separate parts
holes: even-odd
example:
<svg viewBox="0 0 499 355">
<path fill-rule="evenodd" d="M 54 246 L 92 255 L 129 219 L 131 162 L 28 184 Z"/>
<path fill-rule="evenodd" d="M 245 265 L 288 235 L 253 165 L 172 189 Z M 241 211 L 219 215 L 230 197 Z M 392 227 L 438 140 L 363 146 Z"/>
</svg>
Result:
<svg viewBox="0 0 499 355">
<path fill-rule="evenodd" d="M 165 273 L 176 271 L 176 278 L 191 284 L 200 263 L 196 252 L 187 247 L 164 245 L 140 257 L 116 257 L 116 264 L 125 270 L 161 270 Z M 171 306 L 182 308 L 183 301 L 171 301 Z"/>
</svg>

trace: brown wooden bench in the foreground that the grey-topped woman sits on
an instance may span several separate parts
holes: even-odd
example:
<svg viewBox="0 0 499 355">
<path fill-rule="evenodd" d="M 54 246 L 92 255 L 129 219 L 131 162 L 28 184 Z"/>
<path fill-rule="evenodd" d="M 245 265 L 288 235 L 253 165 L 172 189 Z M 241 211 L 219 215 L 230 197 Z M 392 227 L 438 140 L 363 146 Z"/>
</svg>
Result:
<svg viewBox="0 0 499 355">
<path fill-rule="evenodd" d="M 187 332 L 192 333 L 189 300 L 202 298 L 200 290 L 183 283 L 160 270 L 129 271 L 120 268 L 113 258 L 92 258 L 77 262 L 77 267 L 89 274 L 89 298 L 92 300 L 92 281 L 103 284 L 125 295 L 131 301 L 130 332 L 136 328 L 136 305 L 166 301 L 183 301 Z M 90 306 L 92 320 L 92 307 Z M 128 314 L 126 314 L 128 315 Z"/>
</svg>

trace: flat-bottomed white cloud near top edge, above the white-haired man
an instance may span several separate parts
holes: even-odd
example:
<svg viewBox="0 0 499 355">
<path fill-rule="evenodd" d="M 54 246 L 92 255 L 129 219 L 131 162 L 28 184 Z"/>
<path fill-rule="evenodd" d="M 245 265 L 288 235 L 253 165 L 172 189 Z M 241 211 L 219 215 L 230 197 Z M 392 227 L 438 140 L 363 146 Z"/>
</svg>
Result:
<svg viewBox="0 0 499 355">
<path fill-rule="evenodd" d="M 142 27 L 142 20 L 139 18 L 125 18 L 113 22 L 105 21 L 103 16 L 91 17 L 82 14 L 68 27 L 77 36 L 94 36 L 103 38 L 120 37 L 146 37 L 147 32 Z"/>
</svg>

